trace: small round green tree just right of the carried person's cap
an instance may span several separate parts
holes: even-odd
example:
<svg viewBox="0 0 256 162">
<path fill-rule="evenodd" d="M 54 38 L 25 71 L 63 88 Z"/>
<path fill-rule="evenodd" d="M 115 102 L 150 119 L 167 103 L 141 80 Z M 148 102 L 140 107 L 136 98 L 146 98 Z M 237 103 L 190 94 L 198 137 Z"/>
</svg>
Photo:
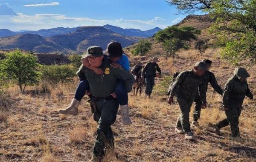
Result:
<svg viewBox="0 0 256 162">
<path fill-rule="evenodd" d="M 133 51 L 134 55 L 146 55 L 151 50 L 151 43 L 148 40 L 140 40 Z"/>
</svg>

